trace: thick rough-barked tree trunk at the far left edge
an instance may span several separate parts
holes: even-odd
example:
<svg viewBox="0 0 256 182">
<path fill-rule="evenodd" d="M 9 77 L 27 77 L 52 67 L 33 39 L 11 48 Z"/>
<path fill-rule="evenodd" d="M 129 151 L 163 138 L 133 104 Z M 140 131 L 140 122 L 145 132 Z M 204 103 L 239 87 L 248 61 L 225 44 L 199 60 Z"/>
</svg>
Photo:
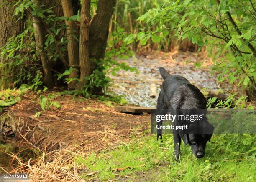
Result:
<svg viewBox="0 0 256 182">
<path fill-rule="evenodd" d="M 23 32 L 24 20 L 20 19 L 17 22 L 18 16 L 13 17 L 14 14 L 14 0 L 0 0 L 0 47 L 5 46 L 8 38 L 18 35 Z M 5 61 L 0 58 L 1 63 L 10 63 L 12 60 Z M 0 66 L 0 90 L 6 89 L 14 82 L 15 75 L 18 73 L 17 68 L 10 67 L 9 65 Z"/>
</svg>

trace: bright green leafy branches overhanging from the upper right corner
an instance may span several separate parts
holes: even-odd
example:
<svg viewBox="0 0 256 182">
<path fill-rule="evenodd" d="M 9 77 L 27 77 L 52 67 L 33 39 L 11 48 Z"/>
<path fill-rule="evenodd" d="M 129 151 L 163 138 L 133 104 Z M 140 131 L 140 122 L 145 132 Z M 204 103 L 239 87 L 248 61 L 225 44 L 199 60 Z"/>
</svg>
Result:
<svg viewBox="0 0 256 182">
<path fill-rule="evenodd" d="M 250 0 L 164 0 L 155 1 L 154 5 L 138 22 L 156 25 L 156 30 L 130 34 L 126 42 L 140 41 L 145 45 L 150 38 L 159 42 L 170 30 L 175 30 L 174 37 L 189 39 L 200 49 L 207 47 L 214 63 L 211 68 L 218 72 L 219 82 L 228 80 L 246 90 L 250 98 L 255 95 L 255 3 Z"/>
</svg>

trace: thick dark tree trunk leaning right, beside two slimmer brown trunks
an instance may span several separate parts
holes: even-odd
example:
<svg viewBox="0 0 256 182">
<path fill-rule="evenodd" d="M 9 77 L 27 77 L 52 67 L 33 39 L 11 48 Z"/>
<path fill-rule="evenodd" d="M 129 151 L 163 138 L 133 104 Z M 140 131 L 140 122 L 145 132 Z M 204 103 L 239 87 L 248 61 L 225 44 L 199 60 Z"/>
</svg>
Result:
<svg viewBox="0 0 256 182">
<path fill-rule="evenodd" d="M 99 0 L 96 15 L 90 22 L 90 65 L 95 70 L 94 60 L 104 58 L 108 40 L 109 22 L 113 14 L 116 0 Z"/>
</svg>

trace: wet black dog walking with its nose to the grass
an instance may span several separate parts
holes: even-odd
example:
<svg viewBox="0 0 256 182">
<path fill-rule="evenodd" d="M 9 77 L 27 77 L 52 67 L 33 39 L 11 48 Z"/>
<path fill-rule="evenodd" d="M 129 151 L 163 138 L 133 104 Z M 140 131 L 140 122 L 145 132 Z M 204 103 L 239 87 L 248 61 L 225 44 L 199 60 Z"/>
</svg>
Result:
<svg viewBox="0 0 256 182">
<path fill-rule="evenodd" d="M 159 68 L 164 82 L 161 86 L 161 91 L 157 99 L 156 115 L 163 114 L 163 110 L 184 110 L 184 109 L 205 109 L 206 114 L 206 99 L 200 90 L 192 85 L 186 78 L 179 75 L 170 75 L 163 67 Z M 175 114 L 175 113 L 172 113 Z M 160 125 L 162 125 L 162 120 Z M 206 117 L 202 122 L 190 122 L 186 132 L 182 130 L 174 130 L 174 153 L 179 162 L 180 142 L 181 138 L 185 144 L 189 144 L 195 157 L 202 158 L 205 155 L 205 146 L 207 141 L 210 142 L 214 127 L 207 122 Z M 190 124 L 189 124 L 190 123 Z M 176 120 L 174 126 L 180 125 Z M 162 139 L 162 130 L 157 129 L 157 140 Z"/>
</svg>

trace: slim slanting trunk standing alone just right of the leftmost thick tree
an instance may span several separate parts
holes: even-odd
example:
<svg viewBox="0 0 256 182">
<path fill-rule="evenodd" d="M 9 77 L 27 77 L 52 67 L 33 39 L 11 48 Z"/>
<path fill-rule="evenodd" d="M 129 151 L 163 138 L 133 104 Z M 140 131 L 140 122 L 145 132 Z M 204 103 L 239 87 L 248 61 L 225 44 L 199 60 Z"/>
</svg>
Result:
<svg viewBox="0 0 256 182">
<path fill-rule="evenodd" d="M 36 6 L 42 5 L 41 1 L 33 0 Z M 34 27 L 34 35 L 36 40 L 36 50 L 40 52 L 40 57 L 42 61 L 42 66 L 44 70 L 44 85 L 46 87 L 53 87 L 53 76 L 51 73 L 51 67 L 48 62 L 47 52 L 44 50 L 44 42 L 45 42 L 45 30 L 44 25 L 38 17 L 33 16 L 33 27 Z"/>
</svg>

